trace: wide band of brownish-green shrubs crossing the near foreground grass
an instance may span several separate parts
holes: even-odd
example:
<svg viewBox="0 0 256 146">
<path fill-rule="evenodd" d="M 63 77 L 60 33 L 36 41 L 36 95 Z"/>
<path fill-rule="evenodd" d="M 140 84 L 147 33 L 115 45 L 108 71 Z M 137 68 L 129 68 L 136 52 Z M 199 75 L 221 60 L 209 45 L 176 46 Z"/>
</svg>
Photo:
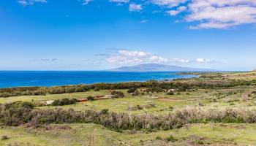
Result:
<svg viewBox="0 0 256 146">
<path fill-rule="evenodd" d="M 52 123 L 97 123 L 107 128 L 158 129 L 180 128 L 187 123 L 256 123 L 256 110 L 252 109 L 225 109 L 203 110 L 192 108 L 176 110 L 170 115 L 129 115 L 127 113 L 108 112 L 108 110 L 86 110 L 78 112 L 69 110 L 35 110 L 30 106 L 20 104 L 1 104 L 0 121 L 6 126 L 19 126 Z"/>
</svg>

